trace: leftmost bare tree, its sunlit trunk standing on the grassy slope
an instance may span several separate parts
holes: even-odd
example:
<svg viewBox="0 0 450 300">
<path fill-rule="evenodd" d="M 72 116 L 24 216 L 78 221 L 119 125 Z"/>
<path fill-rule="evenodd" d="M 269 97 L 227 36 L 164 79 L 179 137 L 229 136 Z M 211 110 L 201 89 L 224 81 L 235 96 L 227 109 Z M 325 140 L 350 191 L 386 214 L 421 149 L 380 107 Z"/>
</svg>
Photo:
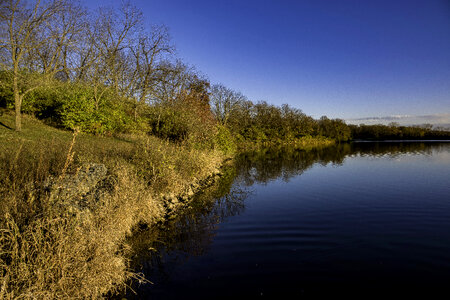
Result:
<svg viewBox="0 0 450 300">
<path fill-rule="evenodd" d="M 41 85 L 41 82 L 25 82 L 22 67 L 26 56 L 49 43 L 53 37 L 41 37 L 46 22 L 63 8 L 63 2 L 54 0 L 44 2 L 37 0 L 34 5 L 27 5 L 21 0 L 2 1 L 0 7 L 1 40 L 0 48 L 6 50 L 2 69 L 10 71 L 16 113 L 16 131 L 22 129 L 21 107 L 26 94 Z M 38 38 L 39 37 L 39 38 Z"/>
</svg>

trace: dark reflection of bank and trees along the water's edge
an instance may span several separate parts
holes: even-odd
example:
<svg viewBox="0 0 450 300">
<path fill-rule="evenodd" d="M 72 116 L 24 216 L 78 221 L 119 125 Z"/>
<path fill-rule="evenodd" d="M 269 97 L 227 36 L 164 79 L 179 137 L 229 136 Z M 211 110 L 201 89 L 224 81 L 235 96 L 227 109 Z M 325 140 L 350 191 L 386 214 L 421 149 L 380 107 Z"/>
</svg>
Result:
<svg viewBox="0 0 450 300">
<path fill-rule="evenodd" d="M 449 143 L 432 142 L 360 142 L 310 151 L 278 148 L 242 154 L 215 185 L 197 195 L 181 216 L 130 240 L 133 267 L 155 283 L 170 281 L 176 266 L 208 252 L 221 222 L 245 210 L 245 200 L 255 183 L 265 185 L 279 179 L 287 182 L 314 164 L 340 166 L 346 157 L 431 156 L 448 152 L 449 147 Z M 137 298 L 156 289 L 158 284 L 140 287 Z"/>
</svg>

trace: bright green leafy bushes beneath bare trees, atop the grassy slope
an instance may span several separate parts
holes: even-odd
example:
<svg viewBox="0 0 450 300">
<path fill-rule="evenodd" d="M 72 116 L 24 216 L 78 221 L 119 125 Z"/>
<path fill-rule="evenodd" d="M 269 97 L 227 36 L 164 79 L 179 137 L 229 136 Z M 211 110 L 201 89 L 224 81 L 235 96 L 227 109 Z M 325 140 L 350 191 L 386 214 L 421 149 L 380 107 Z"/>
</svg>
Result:
<svg viewBox="0 0 450 300">
<path fill-rule="evenodd" d="M 22 110 L 49 124 L 93 134 L 129 132 L 136 127 L 133 104 L 107 89 L 98 100 L 92 87 L 53 82 L 26 95 Z"/>
</svg>

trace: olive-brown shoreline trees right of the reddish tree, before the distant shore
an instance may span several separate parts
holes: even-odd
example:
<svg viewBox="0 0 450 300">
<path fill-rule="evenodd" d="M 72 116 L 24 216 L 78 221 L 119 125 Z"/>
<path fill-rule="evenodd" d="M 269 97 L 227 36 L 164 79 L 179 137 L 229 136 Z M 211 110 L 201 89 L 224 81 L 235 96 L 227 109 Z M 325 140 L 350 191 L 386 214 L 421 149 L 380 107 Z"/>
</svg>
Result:
<svg viewBox="0 0 450 300">
<path fill-rule="evenodd" d="M 349 128 L 340 119 L 315 120 L 287 104 L 254 103 L 222 85 L 212 87 L 211 108 L 217 122 L 229 130 L 239 148 L 351 138 Z"/>
</svg>

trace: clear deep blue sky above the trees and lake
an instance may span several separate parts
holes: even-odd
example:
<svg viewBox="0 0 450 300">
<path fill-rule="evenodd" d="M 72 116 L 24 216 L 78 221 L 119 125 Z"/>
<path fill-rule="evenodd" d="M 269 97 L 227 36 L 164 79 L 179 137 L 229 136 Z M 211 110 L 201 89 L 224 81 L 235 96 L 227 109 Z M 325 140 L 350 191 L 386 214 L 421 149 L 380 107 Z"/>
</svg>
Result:
<svg viewBox="0 0 450 300">
<path fill-rule="evenodd" d="M 252 101 L 316 118 L 450 123 L 449 0 L 132 3 L 169 27 L 181 59 Z"/>
</svg>

